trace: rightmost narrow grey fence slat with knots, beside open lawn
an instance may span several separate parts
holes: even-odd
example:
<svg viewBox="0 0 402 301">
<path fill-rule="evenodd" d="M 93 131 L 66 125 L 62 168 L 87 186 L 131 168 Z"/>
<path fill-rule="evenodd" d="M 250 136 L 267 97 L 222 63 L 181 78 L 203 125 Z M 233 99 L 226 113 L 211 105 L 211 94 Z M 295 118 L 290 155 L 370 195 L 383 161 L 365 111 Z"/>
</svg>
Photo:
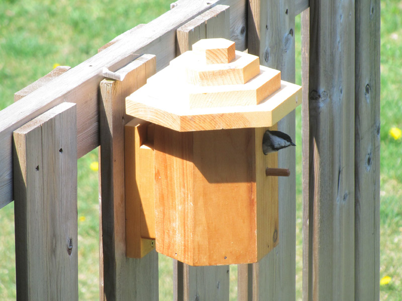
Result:
<svg viewBox="0 0 402 301">
<path fill-rule="evenodd" d="M 355 299 L 379 299 L 380 1 L 357 0 Z"/>
</svg>

